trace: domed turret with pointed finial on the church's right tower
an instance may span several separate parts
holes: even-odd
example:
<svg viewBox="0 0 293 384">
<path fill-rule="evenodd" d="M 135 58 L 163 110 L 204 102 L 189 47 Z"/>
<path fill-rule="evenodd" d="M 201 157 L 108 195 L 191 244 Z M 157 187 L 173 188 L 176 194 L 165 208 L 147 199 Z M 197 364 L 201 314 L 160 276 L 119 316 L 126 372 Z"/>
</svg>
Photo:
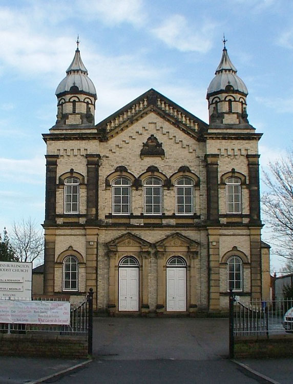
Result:
<svg viewBox="0 0 293 384">
<path fill-rule="evenodd" d="M 248 123 L 246 113 L 248 91 L 244 82 L 237 76 L 237 69 L 228 56 L 225 42 L 224 37 L 222 58 L 206 93 L 210 123 Z"/>
</svg>

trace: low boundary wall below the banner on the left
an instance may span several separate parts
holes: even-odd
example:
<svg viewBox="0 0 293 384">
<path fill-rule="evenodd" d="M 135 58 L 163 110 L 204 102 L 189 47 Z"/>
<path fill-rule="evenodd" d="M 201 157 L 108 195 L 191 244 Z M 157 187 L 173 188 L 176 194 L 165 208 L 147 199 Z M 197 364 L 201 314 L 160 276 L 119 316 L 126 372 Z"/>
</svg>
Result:
<svg viewBox="0 0 293 384">
<path fill-rule="evenodd" d="M 87 358 L 86 336 L 56 334 L 0 334 L 0 355 L 25 357 Z"/>
</svg>

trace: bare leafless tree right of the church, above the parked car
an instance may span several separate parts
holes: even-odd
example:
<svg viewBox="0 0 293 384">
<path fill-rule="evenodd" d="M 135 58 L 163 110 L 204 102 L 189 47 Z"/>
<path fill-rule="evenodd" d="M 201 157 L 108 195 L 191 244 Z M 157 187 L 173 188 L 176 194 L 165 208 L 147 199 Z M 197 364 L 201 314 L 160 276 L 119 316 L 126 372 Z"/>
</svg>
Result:
<svg viewBox="0 0 293 384">
<path fill-rule="evenodd" d="M 267 191 L 262 196 L 265 223 L 275 232 L 275 253 L 293 260 L 293 150 L 269 163 L 264 173 Z"/>
</svg>

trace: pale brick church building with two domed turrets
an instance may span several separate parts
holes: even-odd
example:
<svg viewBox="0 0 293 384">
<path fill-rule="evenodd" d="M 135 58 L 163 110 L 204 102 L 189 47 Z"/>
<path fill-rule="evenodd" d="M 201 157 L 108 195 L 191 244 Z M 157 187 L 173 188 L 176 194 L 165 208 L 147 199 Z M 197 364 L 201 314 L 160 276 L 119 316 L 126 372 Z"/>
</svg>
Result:
<svg viewBox="0 0 293 384">
<path fill-rule="evenodd" d="M 44 293 L 78 302 L 93 288 L 94 308 L 109 315 L 226 312 L 230 288 L 242 302 L 267 299 L 262 134 L 247 94 L 224 41 L 208 123 L 150 89 L 95 124 L 77 44 L 43 135 Z"/>
</svg>

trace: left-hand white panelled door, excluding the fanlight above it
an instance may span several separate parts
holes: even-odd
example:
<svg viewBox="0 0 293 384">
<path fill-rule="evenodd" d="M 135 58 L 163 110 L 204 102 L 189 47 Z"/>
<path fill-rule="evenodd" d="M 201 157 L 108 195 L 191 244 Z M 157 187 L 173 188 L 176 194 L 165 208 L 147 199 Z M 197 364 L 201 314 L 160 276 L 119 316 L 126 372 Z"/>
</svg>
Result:
<svg viewBox="0 0 293 384">
<path fill-rule="evenodd" d="M 138 267 L 119 267 L 119 311 L 138 311 Z"/>
</svg>

